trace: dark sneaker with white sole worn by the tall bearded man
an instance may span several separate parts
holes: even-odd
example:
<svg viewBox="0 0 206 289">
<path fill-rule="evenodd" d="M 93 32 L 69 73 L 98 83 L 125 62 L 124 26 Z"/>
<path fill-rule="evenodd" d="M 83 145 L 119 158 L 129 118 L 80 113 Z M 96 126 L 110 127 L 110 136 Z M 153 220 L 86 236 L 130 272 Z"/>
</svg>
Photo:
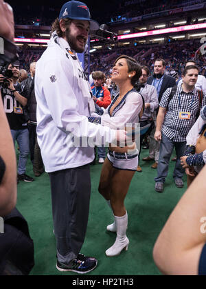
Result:
<svg viewBox="0 0 206 289">
<path fill-rule="evenodd" d="M 86 257 L 83 254 L 79 254 L 76 259 L 71 260 L 67 265 L 56 261 L 56 268 L 62 272 L 76 272 L 79 274 L 85 274 L 91 272 L 98 266 L 98 260 L 93 257 Z"/>
</svg>

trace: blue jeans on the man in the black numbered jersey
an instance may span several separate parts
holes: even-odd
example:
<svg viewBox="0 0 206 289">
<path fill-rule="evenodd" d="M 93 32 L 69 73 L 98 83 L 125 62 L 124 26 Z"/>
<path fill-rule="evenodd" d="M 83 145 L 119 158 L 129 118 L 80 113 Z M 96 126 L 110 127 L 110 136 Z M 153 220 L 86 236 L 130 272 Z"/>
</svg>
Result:
<svg viewBox="0 0 206 289">
<path fill-rule="evenodd" d="M 26 164 L 28 155 L 30 153 L 30 139 L 29 139 L 29 130 L 27 128 L 23 130 L 11 130 L 12 138 L 14 141 L 17 141 L 19 145 L 19 163 L 17 172 L 19 175 L 25 174 Z"/>
</svg>

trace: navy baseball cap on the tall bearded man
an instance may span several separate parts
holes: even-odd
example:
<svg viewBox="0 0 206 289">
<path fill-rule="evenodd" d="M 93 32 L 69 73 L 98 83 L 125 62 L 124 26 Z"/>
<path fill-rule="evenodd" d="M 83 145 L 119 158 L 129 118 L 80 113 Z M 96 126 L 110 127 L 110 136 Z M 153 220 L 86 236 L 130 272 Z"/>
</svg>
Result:
<svg viewBox="0 0 206 289">
<path fill-rule="evenodd" d="M 87 20 L 90 22 L 91 30 L 99 29 L 98 22 L 90 19 L 91 15 L 87 5 L 80 1 L 71 0 L 62 6 L 58 20 L 64 18 Z"/>
</svg>

